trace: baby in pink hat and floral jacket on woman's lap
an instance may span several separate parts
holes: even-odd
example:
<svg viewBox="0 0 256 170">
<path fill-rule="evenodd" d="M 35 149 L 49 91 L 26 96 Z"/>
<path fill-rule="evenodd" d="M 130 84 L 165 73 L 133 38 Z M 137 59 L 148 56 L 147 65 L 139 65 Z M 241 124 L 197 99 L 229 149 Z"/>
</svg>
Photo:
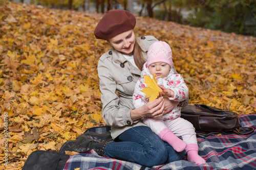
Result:
<svg viewBox="0 0 256 170">
<path fill-rule="evenodd" d="M 157 84 L 162 89 L 162 94 L 169 100 L 184 101 L 188 97 L 188 88 L 181 75 L 175 74 L 173 69 L 173 55 L 170 46 L 163 41 L 153 43 L 147 52 L 147 62 L 143 65 L 141 75 L 153 78 L 156 75 Z M 146 94 L 141 90 L 147 87 L 143 76 L 138 80 L 134 94 L 133 104 L 139 108 L 148 102 Z M 205 160 L 198 155 L 198 143 L 195 128 L 187 120 L 180 117 L 180 107 L 161 117 L 145 117 L 143 123 L 152 129 L 163 141 L 169 143 L 175 151 L 187 152 L 187 159 L 196 164 L 203 164 Z M 180 139 L 179 137 L 182 137 Z"/>
</svg>

